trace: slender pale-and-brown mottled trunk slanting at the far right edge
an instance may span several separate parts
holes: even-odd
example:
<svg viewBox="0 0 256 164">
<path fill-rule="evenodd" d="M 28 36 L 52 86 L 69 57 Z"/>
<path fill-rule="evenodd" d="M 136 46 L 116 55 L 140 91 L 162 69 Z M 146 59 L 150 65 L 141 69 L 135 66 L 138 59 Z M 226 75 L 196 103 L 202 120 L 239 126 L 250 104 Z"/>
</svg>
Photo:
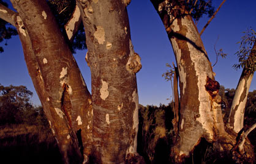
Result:
<svg viewBox="0 0 256 164">
<path fill-rule="evenodd" d="M 247 60 L 255 57 L 255 51 L 256 42 L 254 43 Z M 236 87 L 227 124 L 227 127 L 235 133 L 238 133 L 244 127 L 244 110 L 246 108 L 247 96 L 249 93 L 250 83 L 252 82 L 252 77 L 254 77 L 254 71 L 251 71 L 250 68 L 244 68 L 239 79 L 238 86 Z"/>
</svg>

